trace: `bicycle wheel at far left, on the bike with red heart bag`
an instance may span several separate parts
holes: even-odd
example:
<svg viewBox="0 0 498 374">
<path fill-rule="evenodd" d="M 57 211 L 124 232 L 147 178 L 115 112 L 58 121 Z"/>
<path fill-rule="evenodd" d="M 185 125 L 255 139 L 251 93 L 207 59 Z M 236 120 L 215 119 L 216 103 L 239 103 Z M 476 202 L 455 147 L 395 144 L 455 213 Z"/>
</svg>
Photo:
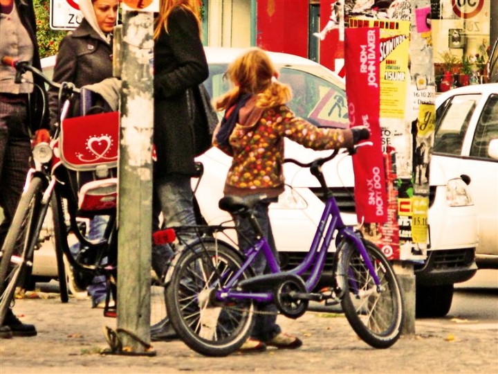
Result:
<svg viewBox="0 0 498 374">
<path fill-rule="evenodd" d="M 0 261 L 0 324 L 6 317 L 14 299 L 15 290 L 24 281 L 24 273 L 33 261 L 33 250 L 37 244 L 39 225 L 43 212 L 41 204 L 43 181 L 31 179 L 28 189 L 21 196 L 10 229 L 3 242 Z"/>
</svg>

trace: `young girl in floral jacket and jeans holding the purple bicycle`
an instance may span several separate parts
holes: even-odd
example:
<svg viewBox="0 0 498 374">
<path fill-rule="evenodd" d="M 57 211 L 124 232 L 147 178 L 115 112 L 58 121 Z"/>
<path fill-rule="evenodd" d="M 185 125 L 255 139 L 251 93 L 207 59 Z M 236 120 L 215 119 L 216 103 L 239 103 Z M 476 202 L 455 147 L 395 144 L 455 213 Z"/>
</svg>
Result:
<svg viewBox="0 0 498 374">
<path fill-rule="evenodd" d="M 277 255 L 268 217 L 268 206 L 284 192 L 284 138 L 313 150 L 349 148 L 369 138 L 369 130 L 319 129 L 295 116 L 286 103 L 292 98 L 291 87 L 277 80 L 278 72 L 260 48 L 250 48 L 228 67 L 227 76 L 234 87 L 216 100 L 217 110 L 225 110 L 223 120 L 214 132 L 213 143 L 232 157 L 223 193 L 225 195 L 266 194 L 255 208 L 255 216 Z M 250 246 L 255 233 L 247 219 L 238 217 L 240 249 Z M 248 242 L 248 240 L 250 242 Z M 278 256 L 277 256 L 278 258 Z M 266 274 L 264 253 L 252 264 L 256 274 Z M 264 350 L 266 346 L 299 348 L 302 341 L 287 335 L 277 325 L 274 304 L 258 305 L 255 328 L 241 350 Z"/>
</svg>

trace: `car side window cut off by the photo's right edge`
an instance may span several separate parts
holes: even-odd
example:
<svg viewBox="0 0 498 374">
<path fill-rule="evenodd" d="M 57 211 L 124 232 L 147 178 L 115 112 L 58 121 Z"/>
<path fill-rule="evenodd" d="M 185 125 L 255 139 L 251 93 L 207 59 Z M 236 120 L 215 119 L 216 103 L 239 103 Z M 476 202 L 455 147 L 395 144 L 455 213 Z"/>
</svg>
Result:
<svg viewBox="0 0 498 374">
<path fill-rule="evenodd" d="M 491 159 L 488 147 L 492 139 L 498 139 L 498 95 L 491 95 L 484 105 L 472 139 L 470 156 Z"/>
</svg>

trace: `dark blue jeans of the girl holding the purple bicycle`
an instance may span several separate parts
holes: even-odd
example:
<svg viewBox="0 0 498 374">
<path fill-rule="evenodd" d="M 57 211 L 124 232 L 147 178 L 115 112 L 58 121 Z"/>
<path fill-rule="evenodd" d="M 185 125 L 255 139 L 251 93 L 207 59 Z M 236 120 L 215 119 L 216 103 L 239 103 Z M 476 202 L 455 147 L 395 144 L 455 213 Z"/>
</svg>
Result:
<svg viewBox="0 0 498 374">
<path fill-rule="evenodd" d="M 270 248 L 272 249 L 275 258 L 277 258 L 278 260 L 277 247 L 275 246 L 275 239 L 273 238 L 270 217 L 268 216 L 268 207 L 270 206 L 271 202 L 275 201 L 276 199 L 267 199 L 257 204 L 257 206 L 255 207 L 255 216 L 257 217 L 259 226 L 261 226 L 261 230 L 268 240 L 268 244 L 270 244 Z M 254 229 L 252 229 L 250 221 L 247 218 L 237 217 L 237 221 L 239 223 L 239 229 L 237 233 L 239 247 L 241 249 L 246 249 L 250 247 L 250 244 L 252 244 L 252 242 L 255 242 L 256 234 L 254 232 Z M 243 235 L 248 238 L 250 243 L 248 243 L 248 241 L 243 238 Z M 268 274 L 270 272 L 263 251 L 260 251 L 256 256 L 255 261 L 252 262 L 252 268 L 254 269 L 256 275 Z M 257 305 L 257 309 L 258 312 L 261 312 L 261 314 L 256 314 L 256 322 L 252 330 L 251 337 L 260 341 L 271 340 L 282 331 L 280 326 L 277 325 L 277 307 L 273 303 L 259 303 Z"/>
</svg>

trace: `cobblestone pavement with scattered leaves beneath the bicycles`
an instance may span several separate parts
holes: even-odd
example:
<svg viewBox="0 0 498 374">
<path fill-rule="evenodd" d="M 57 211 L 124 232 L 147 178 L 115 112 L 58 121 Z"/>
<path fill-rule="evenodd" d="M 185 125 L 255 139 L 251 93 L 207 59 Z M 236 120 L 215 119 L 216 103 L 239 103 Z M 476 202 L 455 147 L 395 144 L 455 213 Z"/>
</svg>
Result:
<svg viewBox="0 0 498 374">
<path fill-rule="evenodd" d="M 45 295 L 46 296 L 46 295 Z M 416 335 L 376 350 L 356 337 L 342 314 L 306 312 L 297 320 L 279 316 L 283 330 L 302 337 L 297 350 L 229 357 L 203 357 L 181 341 L 153 342 L 154 357 L 101 355 L 109 348 L 103 317 L 91 301 L 21 299 L 15 314 L 35 323 L 36 337 L 0 339 L 0 374 L 58 373 L 498 373 L 498 326 L 478 321 L 416 321 Z"/>
</svg>

